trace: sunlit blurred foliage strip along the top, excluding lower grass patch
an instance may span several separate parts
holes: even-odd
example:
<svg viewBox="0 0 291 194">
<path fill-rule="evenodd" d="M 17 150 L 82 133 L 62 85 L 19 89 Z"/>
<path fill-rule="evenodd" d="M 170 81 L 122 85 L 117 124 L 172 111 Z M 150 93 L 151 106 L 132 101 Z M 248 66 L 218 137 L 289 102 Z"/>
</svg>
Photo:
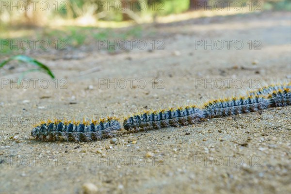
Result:
<svg viewBox="0 0 291 194">
<path fill-rule="evenodd" d="M 1 2 L 0 19 L 1 22 L 11 25 L 47 25 L 62 23 L 60 21 L 65 23 L 66 20 L 75 20 L 75 24 L 86 26 L 94 25 L 98 21 L 132 20 L 142 23 L 153 21 L 155 16 L 179 14 L 188 10 L 197 11 L 195 7 L 199 5 L 198 1 L 202 3 L 207 1 L 209 5 L 216 5 L 215 2 L 220 1 L 226 5 L 224 0 L 37 0 L 37 3 L 35 1 L 33 3 L 33 0 L 5 0 L 9 6 Z M 237 1 L 242 2 L 245 8 L 249 8 L 250 0 L 232 0 L 231 4 Z M 290 0 L 252 0 L 251 2 L 256 4 L 258 1 L 263 10 L 291 11 Z M 35 7 L 35 10 L 32 7 Z M 125 7 L 127 9 L 124 9 Z"/>
</svg>

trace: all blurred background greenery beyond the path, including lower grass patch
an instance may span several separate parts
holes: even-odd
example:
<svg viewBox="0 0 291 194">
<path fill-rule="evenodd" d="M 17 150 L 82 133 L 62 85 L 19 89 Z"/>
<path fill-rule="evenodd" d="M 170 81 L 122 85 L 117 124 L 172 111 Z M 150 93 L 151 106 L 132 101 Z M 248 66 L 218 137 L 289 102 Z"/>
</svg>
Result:
<svg viewBox="0 0 291 194">
<path fill-rule="evenodd" d="M 243 3 L 242 11 L 234 10 L 238 1 Z M 0 41 L 5 46 L 0 52 L 27 54 L 21 42 L 33 39 L 47 40 L 58 47 L 55 50 L 87 47 L 98 40 L 140 39 L 155 32 L 139 24 L 256 13 L 258 7 L 291 11 L 291 0 L 232 0 L 230 11 L 220 9 L 219 2 L 227 5 L 225 0 L 1 0 Z M 212 7 L 206 10 L 201 3 Z"/>
</svg>

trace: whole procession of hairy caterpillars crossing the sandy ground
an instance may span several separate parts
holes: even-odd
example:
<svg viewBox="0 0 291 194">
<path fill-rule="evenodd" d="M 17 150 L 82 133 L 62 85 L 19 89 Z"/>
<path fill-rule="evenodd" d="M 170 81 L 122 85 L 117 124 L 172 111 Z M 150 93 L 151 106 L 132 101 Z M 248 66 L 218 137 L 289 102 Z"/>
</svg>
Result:
<svg viewBox="0 0 291 194">
<path fill-rule="evenodd" d="M 194 105 L 169 108 L 160 111 L 145 111 L 123 120 L 124 129 L 139 131 L 140 129 L 161 129 L 180 127 L 201 122 L 204 119 L 250 113 L 271 107 L 291 105 L 291 82 L 282 85 L 271 85 L 248 92 L 247 96 L 216 99 L 206 102 L 201 108 Z M 48 120 L 32 129 L 32 137 L 36 140 L 93 141 L 112 137 L 113 131 L 121 130 L 120 119 L 108 117 L 91 122 L 83 120 L 70 121 Z"/>
</svg>

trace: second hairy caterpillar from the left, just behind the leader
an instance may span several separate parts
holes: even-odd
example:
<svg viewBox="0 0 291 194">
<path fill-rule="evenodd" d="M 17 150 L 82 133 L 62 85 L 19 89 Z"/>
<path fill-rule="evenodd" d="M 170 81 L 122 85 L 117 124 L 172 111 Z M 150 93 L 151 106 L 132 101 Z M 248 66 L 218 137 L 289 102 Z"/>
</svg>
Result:
<svg viewBox="0 0 291 194">
<path fill-rule="evenodd" d="M 146 111 L 126 118 L 123 122 L 124 129 L 161 129 L 166 127 L 179 127 L 192 125 L 205 118 L 205 113 L 195 106 L 185 108 L 168 109 L 157 111 Z"/>
</svg>

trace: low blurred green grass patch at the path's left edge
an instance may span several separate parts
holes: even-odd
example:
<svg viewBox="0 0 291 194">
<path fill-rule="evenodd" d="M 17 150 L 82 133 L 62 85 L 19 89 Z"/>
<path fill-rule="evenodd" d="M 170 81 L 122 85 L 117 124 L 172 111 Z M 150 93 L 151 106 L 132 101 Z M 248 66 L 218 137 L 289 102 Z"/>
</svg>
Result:
<svg viewBox="0 0 291 194">
<path fill-rule="evenodd" d="M 64 26 L 59 29 L 42 28 L 37 30 L 34 34 L 36 37 L 33 38 L 30 35 L 24 35 L 21 38 L 0 38 L 0 53 L 8 55 L 23 53 L 27 48 L 27 42 L 30 42 L 30 49 L 32 49 L 33 42 L 31 40 L 39 40 L 35 44 L 36 50 L 46 51 L 46 49 L 41 48 L 41 40 L 48 41 L 50 49 L 62 50 L 86 45 L 97 46 L 100 40 L 113 43 L 114 40 L 118 42 L 119 40 L 141 39 L 143 33 L 144 30 L 140 25 L 129 27 L 126 30 L 119 29 L 118 31 L 111 28 L 80 26 Z M 152 34 L 153 32 L 148 31 L 147 33 Z M 44 47 L 46 47 L 46 44 L 44 44 Z M 113 50 L 109 50 L 109 52 L 113 52 Z"/>
</svg>

